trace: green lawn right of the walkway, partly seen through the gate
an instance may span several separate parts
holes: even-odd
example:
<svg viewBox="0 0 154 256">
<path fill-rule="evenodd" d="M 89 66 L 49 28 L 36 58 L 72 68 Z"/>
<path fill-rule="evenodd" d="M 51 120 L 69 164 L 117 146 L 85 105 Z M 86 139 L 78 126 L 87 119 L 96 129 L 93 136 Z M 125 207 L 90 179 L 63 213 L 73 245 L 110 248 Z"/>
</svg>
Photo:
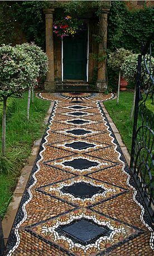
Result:
<svg viewBox="0 0 154 256">
<path fill-rule="evenodd" d="M 131 115 L 131 108 L 132 108 L 132 102 L 133 102 L 133 92 L 121 92 L 120 93 L 120 98 L 119 98 L 119 105 L 117 105 L 117 99 L 115 100 L 110 100 L 104 102 L 105 108 L 107 108 L 108 113 L 110 117 L 112 118 L 113 122 L 116 124 L 119 133 L 122 136 L 123 142 L 125 143 L 126 147 L 128 148 L 129 153 L 131 153 L 131 145 L 132 145 L 132 131 L 133 131 L 133 120 L 130 118 Z M 152 121 L 152 114 L 154 112 L 153 105 L 151 104 L 151 99 L 147 99 L 146 101 L 146 107 L 147 111 L 146 113 L 148 114 L 148 122 L 151 123 Z M 141 115 L 138 115 L 138 127 L 142 125 L 142 118 Z M 144 130 L 146 131 L 146 130 Z M 145 134 L 145 133 L 144 133 Z M 142 136 L 142 131 L 141 131 L 141 136 Z M 145 134 L 145 137 L 143 136 L 143 139 L 139 138 L 139 143 L 144 143 L 144 140 L 149 139 L 149 145 L 152 147 L 152 136 L 147 132 Z M 146 159 L 147 157 L 147 151 L 142 149 L 142 157 Z M 147 159 L 148 165 L 150 166 L 152 164 L 150 156 L 148 156 Z M 143 171 L 143 170 L 142 170 Z M 146 169 L 145 169 L 146 171 Z M 154 175 L 154 170 L 151 170 L 152 175 Z M 149 181 L 149 176 L 147 175 L 146 177 L 147 183 Z"/>
</svg>

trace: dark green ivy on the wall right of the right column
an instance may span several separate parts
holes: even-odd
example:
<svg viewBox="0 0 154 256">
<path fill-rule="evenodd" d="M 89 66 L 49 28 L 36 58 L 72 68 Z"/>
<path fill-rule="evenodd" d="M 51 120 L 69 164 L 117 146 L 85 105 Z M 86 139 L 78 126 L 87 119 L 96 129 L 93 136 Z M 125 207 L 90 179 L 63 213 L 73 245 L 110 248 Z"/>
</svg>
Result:
<svg viewBox="0 0 154 256">
<path fill-rule="evenodd" d="M 124 1 L 112 1 L 108 17 L 108 49 L 125 48 L 139 53 L 141 42 L 154 30 L 154 9 L 128 10 Z"/>
</svg>

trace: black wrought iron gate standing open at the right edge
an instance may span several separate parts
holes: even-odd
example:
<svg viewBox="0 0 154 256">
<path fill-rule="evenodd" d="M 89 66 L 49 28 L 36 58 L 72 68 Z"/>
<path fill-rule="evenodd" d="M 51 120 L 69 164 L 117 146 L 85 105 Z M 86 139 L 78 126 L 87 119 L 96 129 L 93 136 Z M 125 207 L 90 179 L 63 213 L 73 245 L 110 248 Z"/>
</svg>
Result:
<svg viewBox="0 0 154 256">
<path fill-rule="evenodd" d="M 137 188 L 146 204 L 148 213 L 154 218 L 154 156 L 153 118 L 154 74 L 152 59 L 153 35 L 142 45 L 138 55 L 136 100 L 134 108 L 131 171 Z"/>
</svg>

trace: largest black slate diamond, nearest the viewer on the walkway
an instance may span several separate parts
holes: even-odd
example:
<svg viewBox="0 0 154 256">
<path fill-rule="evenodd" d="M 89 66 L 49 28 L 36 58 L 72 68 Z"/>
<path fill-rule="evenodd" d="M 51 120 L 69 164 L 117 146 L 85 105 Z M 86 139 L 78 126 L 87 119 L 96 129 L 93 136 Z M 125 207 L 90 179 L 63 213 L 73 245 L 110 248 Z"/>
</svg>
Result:
<svg viewBox="0 0 154 256">
<path fill-rule="evenodd" d="M 64 235 L 72 239 L 75 243 L 82 245 L 92 244 L 101 236 L 109 236 L 112 232 L 109 227 L 99 226 L 91 220 L 85 218 L 71 222 L 69 225 L 59 226 L 56 229 L 60 235 Z"/>
</svg>

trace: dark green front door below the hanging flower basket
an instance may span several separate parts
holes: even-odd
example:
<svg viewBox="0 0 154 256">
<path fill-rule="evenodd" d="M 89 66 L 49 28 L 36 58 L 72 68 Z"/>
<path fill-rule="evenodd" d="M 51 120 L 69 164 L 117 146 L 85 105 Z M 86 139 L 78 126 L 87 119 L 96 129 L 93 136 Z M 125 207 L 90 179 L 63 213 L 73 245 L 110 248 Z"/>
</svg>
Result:
<svg viewBox="0 0 154 256">
<path fill-rule="evenodd" d="M 63 41 L 64 80 L 86 80 L 86 31 L 66 36 Z"/>
</svg>

